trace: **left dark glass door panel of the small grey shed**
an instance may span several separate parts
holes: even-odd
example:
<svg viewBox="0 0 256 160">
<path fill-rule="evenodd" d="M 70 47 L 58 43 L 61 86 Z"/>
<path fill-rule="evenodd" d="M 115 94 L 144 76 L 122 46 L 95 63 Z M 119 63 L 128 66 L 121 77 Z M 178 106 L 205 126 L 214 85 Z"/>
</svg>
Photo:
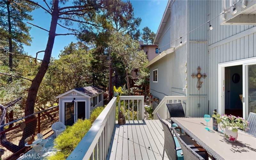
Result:
<svg viewBox="0 0 256 160">
<path fill-rule="evenodd" d="M 75 103 L 65 102 L 65 125 L 73 125 L 75 123 Z"/>
</svg>

